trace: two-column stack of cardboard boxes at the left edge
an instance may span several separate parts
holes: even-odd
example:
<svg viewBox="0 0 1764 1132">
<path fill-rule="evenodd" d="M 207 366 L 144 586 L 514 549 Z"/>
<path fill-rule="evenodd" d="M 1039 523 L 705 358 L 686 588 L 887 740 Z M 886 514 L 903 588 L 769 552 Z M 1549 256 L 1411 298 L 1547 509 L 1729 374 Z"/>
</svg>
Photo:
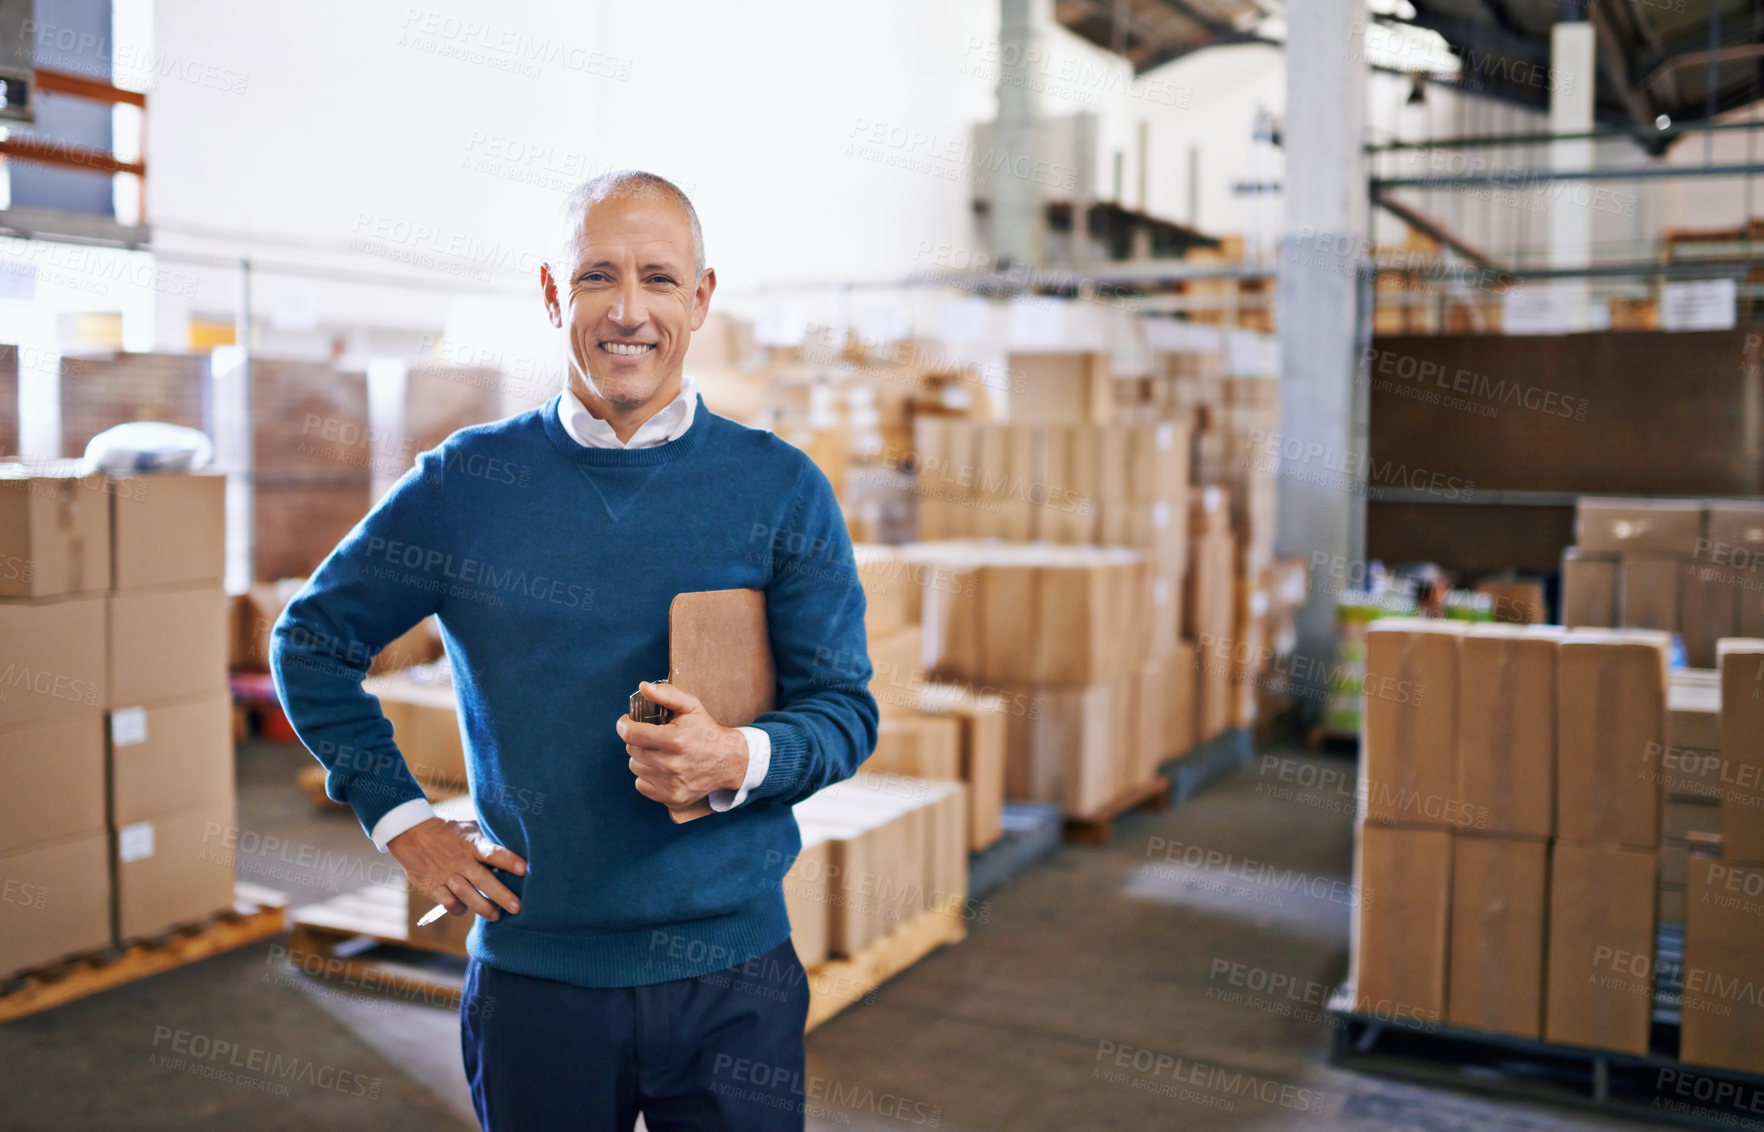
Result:
<svg viewBox="0 0 1764 1132">
<path fill-rule="evenodd" d="M 12 970 L 231 906 L 233 741 L 224 478 L 0 481 Z"/>
</svg>

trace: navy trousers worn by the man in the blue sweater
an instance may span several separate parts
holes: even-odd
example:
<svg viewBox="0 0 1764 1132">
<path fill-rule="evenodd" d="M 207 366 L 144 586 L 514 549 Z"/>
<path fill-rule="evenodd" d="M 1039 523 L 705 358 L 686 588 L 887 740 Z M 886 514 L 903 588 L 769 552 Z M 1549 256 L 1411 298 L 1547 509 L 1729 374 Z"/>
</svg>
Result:
<svg viewBox="0 0 1764 1132">
<path fill-rule="evenodd" d="M 579 987 L 466 968 L 459 1003 L 485 1132 L 803 1128 L 808 972 L 790 940 L 697 979 Z"/>
</svg>

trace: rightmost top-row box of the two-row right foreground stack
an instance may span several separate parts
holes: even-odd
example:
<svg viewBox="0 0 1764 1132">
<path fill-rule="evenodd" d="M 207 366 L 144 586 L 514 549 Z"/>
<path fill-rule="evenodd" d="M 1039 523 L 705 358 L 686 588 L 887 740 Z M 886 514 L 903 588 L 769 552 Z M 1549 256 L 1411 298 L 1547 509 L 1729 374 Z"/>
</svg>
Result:
<svg viewBox="0 0 1764 1132">
<path fill-rule="evenodd" d="M 1651 850 L 1660 841 L 1671 637 L 1579 629 L 1556 670 L 1556 836 Z"/>
</svg>

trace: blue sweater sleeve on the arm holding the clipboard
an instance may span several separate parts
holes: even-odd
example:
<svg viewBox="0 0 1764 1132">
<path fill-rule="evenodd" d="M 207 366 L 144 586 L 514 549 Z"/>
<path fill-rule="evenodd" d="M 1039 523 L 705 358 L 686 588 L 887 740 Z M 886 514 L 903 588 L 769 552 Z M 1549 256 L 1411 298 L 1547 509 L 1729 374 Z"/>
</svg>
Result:
<svg viewBox="0 0 1764 1132">
<path fill-rule="evenodd" d="M 877 746 L 864 591 L 833 485 L 803 460 L 796 508 L 771 540 L 766 619 L 778 709 L 755 719 L 771 765 L 750 799 L 796 804 L 850 778 Z"/>
</svg>

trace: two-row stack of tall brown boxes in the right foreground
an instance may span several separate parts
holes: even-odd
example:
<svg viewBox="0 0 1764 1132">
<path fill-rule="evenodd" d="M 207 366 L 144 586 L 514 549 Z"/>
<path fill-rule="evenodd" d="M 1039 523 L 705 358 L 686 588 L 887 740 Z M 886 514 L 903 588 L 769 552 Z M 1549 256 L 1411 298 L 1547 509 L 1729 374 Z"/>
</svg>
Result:
<svg viewBox="0 0 1764 1132">
<path fill-rule="evenodd" d="M 1360 1010 L 1648 1051 L 1669 644 L 1369 626 Z"/>
</svg>

